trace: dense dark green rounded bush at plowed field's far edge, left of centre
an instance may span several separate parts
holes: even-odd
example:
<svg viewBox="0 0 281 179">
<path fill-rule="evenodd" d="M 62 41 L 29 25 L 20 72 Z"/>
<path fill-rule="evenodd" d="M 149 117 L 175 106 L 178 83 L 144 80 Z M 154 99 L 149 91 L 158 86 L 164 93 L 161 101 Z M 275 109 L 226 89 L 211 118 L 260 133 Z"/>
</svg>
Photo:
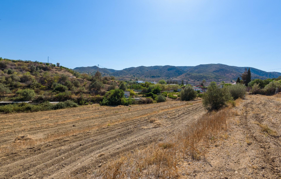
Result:
<svg viewBox="0 0 281 179">
<path fill-rule="evenodd" d="M 108 91 L 103 97 L 100 105 L 121 105 L 122 98 L 124 98 L 124 91 L 121 89 L 114 89 Z"/>
</svg>

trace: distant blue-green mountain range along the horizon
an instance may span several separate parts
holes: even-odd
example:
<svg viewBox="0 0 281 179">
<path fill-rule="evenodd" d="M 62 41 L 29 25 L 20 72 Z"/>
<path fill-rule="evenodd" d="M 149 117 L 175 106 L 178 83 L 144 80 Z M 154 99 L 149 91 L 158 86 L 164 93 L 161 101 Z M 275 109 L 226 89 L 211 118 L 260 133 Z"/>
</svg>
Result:
<svg viewBox="0 0 281 179">
<path fill-rule="evenodd" d="M 236 67 L 224 64 L 204 64 L 197 66 L 139 66 L 130 67 L 123 70 L 114 70 L 107 68 L 99 68 L 103 75 L 112 75 L 117 78 L 126 79 L 142 79 L 147 81 L 164 80 L 188 80 L 198 83 L 205 79 L 206 81 L 236 81 L 237 78 L 249 67 Z M 97 66 L 93 67 L 76 67 L 73 70 L 81 73 L 96 73 Z M 266 72 L 250 67 L 252 79 L 278 78 L 280 72 Z"/>
</svg>

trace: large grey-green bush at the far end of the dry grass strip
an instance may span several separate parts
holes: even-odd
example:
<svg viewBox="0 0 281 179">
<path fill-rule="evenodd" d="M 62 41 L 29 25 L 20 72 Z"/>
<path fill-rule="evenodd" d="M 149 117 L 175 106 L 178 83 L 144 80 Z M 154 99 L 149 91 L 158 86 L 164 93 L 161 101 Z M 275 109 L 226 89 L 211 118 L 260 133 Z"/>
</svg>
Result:
<svg viewBox="0 0 281 179">
<path fill-rule="evenodd" d="M 219 110 L 226 106 L 227 101 L 232 100 L 228 88 L 219 88 L 217 85 L 208 87 L 206 93 L 203 94 L 203 106 L 208 112 Z"/>
</svg>

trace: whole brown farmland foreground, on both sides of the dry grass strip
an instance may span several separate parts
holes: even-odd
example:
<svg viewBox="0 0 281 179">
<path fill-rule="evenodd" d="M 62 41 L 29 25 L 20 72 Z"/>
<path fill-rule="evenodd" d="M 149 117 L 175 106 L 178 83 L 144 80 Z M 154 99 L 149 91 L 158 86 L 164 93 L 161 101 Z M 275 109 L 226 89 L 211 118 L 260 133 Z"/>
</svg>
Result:
<svg viewBox="0 0 281 179">
<path fill-rule="evenodd" d="M 116 178 L 156 172 L 159 178 L 280 178 L 281 95 L 247 95 L 235 103 L 211 114 L 201 100 L 2 114 L 0 178 L 110 178 L 116 169 Z M 223 118 L 223 126 L 212 124 Z M 209 127 L 194 127 L 202 124 Z M 197 158 L 182 155 L 187 135 L 181 134 L 196 130 L 211 137 L 197 142 Z M 158 163 L 165 170 L 156 163 L 135 173 L 135 164 L 155 153 L 164 154 Z"/>
</svg>

